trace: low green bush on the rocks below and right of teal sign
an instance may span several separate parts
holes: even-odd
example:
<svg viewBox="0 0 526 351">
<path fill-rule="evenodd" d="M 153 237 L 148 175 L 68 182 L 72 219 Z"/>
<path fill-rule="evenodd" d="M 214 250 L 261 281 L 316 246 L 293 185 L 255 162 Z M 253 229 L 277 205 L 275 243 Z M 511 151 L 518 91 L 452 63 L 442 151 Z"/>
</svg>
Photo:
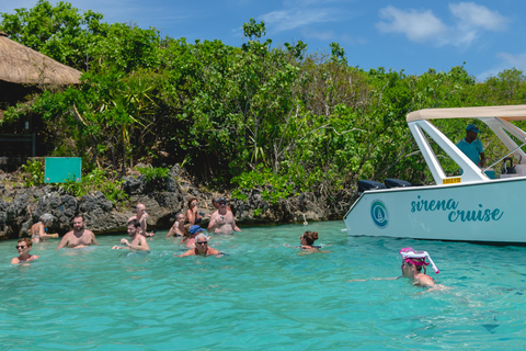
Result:
<svg viewBox="0 0 526 351">
<path fill-rule="evenodd" d="M 107 200 L 115 205 L 118 205 L 126 201 L 128 196 L 122 190 L 124 181 L 116 179 L 116 176 L 115 171 L 94 169 L 87 176 L 83 176 L 80 182 L 76 182 L 71 179 L 70 181 L 62 183 L 60 186 L 76 197 L 100 191 Z"/>
</svg>

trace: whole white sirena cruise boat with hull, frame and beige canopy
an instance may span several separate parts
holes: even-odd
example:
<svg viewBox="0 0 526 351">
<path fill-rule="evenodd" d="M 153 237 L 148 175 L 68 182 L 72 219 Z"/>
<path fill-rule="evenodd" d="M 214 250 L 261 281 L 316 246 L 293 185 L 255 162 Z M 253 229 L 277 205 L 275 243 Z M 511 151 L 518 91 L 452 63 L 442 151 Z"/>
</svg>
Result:
<svg viewBox="0 0 526 351">
<path fill-rule="evenodd" d="M 485 169 L 474 165 L 456 143 L 430 122 L 436 118 L 478 118 L 508 150 L 494 165 L 501 165 L 512 155 L 519 161 L 514 169 L 506 168 L 498 179 L 490 179 Z M 526 201 L 523 199 L 526 194 L 526 155 L 522 150 L 526 145 L 526 133 L 512 123 L 524 120 L 526 105 L 411 112 L 407 122 L 435 184 L 404 186 L 410 184 L 398 182 L 401 188 L 387 188 L 380 186 L 381 183 L 366 183 L 377 189 L 363 191 L 348 210 L 344 217 L 347 234 L 526 244 L 526 230 L 522 229 L 521 219 L 522 216 L 526 218 Z M 461 176 L 446 176 L 426 136 L 459 166 Z"/>
</svg>

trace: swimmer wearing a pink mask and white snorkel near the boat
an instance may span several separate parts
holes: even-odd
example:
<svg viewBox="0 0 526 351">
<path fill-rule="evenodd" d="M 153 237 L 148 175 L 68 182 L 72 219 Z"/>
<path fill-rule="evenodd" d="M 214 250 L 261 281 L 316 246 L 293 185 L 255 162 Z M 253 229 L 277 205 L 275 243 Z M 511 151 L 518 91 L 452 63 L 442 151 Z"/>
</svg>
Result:
<svg viewBox="0 0 526 351">
<path fill-rule="evenodd" d="M 426 274 L 426 267 L 433 267 L 435 273 L 439 273 L 438 269 L 436 268 L 435 263 L 431 259 L 430 254 L 425 251 L 415 251 L 413 248 L 403 248 L 399 252 L 400 257 L 402 258 L 402 265 L 400 267 L 402 270 L 402 275 L 396 278 L 371 278 L 373 281 L 380 281 L 380 280 L 397 280 L 400 278 L 408 278 L 413 285 L 422 286 L 422 287 L 430 287 L 431 290 L 443 290 L 446 286 L 436 284 L 431 276 Z M 430 262 L 426 262 L 425 260 Z M 422 273 L 422 269 L 424 272 Z M 366 279 L 357 279 L 352 280 L 350 282 L 365 282 Z"/>
</svg>

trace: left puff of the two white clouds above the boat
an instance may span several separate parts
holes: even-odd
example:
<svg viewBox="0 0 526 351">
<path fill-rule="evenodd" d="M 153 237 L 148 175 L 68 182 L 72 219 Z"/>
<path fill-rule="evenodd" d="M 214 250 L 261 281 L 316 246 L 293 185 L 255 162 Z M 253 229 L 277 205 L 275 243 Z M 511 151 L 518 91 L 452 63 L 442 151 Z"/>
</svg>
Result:
<svg viewBox="0 0 526 351">
<path fill-rule="evenodd" d="M 380 10 L 380 18 L 385 22 L 376 23 L 376 27 L 384 33 L 401 33 L 410 41 L 424 43 L 444 35 L 446 25 L 436 18 L 431 10 L 400 10 L 387 7 Z"/>
</svg>

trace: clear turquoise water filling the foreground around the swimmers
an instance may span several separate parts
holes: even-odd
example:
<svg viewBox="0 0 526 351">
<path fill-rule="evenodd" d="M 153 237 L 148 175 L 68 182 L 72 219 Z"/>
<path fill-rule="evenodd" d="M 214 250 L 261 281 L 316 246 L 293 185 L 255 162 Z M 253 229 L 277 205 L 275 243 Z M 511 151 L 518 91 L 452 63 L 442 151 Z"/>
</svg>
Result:
<svg viewBox="0 0 526 351">
<path fill-rule="evenodd" d="M 242 228 L 215 237 L 220 258 L 175 258 L 163 233 L 151 253 L 100 247 L 10 264 L 0 242 L 2 350 L 510 350 L 526 342 L 526 248 L 348 237 L 342 222 Z M 327 253 L 293 248 L 317 230 Z M 427 250 L 450 286 L 397 276 L 402 247 Z"/>
</svg>

